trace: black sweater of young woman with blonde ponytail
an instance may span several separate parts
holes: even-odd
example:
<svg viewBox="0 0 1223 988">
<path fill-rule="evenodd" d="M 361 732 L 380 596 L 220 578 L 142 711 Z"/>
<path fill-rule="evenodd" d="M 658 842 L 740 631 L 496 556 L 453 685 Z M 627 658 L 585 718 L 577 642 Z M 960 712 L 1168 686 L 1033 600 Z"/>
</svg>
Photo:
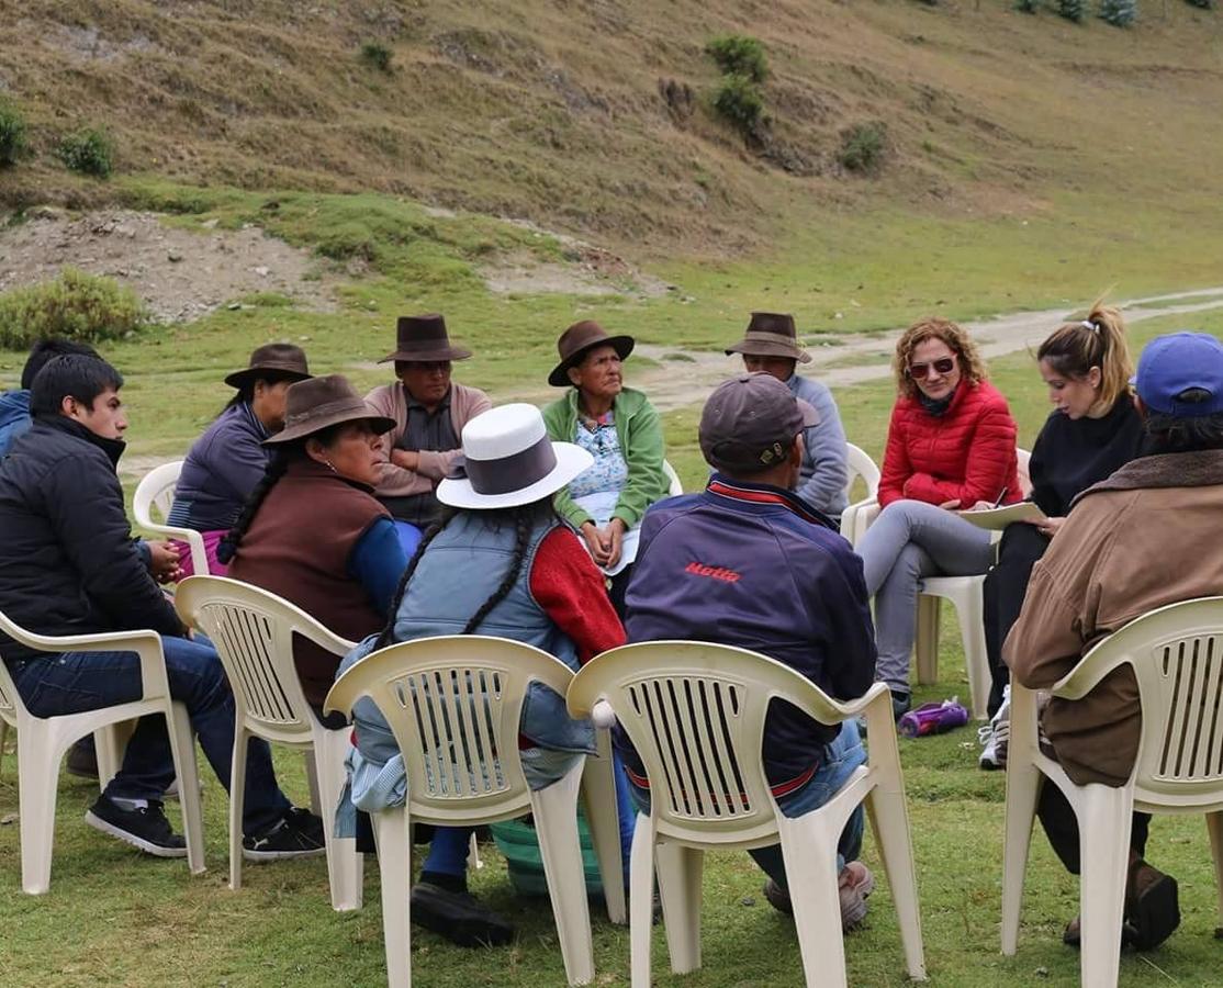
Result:
<svg viewBox="0 0 1223 988">
<path fill-rule="evenodd" d="M 1075 496 L 1140 456 L 1142 440 L 1142 418 L 1129 395 L 1103 418 L 1053 412 L 1032 448 L 1032 500 L 1049 517 L 1064 517 Z"/>
</svg>

